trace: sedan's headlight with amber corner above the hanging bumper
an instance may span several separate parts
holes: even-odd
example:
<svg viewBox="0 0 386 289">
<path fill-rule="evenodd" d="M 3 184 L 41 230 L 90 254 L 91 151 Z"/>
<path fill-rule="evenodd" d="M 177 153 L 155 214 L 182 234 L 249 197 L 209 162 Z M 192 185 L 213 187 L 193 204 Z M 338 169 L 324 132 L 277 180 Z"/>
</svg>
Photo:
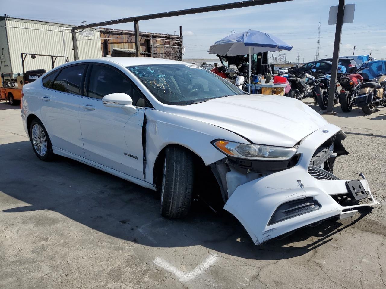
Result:
<svg viewBox="0 0 386 289">
<path fill-rule="evenodd" d="M 222 139 L 215 140 L 212 144 L 227 156 L 247 160 L 284 161 L 289 160 L 296 153 L 295 148 L 266 146 L 263 144 L 233 143 Z"/>
</svg>

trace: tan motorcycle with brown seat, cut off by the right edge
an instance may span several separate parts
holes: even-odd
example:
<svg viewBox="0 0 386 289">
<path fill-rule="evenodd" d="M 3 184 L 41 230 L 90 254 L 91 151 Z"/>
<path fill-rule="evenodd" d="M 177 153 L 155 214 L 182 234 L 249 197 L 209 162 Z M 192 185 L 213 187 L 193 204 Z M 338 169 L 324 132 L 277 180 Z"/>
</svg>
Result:
<svg viewBox="0 0 386 289">
<path fill-rule="evenodd" d="M 360 84 L 355 104 L 366 114 L 372 114 L 377 105 L 386 106 L 386 75 L 378 74 L 371 82 Z"/>
</svg>

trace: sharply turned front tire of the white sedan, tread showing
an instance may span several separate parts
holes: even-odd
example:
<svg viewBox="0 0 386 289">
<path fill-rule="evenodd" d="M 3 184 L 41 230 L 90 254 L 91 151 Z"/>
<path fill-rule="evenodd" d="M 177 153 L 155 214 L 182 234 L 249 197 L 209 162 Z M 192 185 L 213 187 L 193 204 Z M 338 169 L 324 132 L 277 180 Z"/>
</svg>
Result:
<svg viewBox="0 0 386 289">
<path fill-rule="evenodd" d="M 166 148 L 159 210 L 166 218 L 185 217 L 193 196 L 192 154 L 181 147 Z"/>
</svg>

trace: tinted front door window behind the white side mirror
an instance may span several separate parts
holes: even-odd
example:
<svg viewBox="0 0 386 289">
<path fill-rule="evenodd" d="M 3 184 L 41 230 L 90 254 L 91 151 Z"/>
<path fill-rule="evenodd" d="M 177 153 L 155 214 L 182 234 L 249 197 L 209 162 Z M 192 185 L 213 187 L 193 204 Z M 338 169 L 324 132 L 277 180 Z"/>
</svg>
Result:
<svg viewBox="0 0 386 289">
<path fill-rule="evenodd" d="M 127 77 L 110 67 L 93 65 L 87 96 L 102 99 L 107 94 L 117 92 L 128 94 L 133 100 L 133 105 L 144 106 L 141 93 Z"/>
</svg>

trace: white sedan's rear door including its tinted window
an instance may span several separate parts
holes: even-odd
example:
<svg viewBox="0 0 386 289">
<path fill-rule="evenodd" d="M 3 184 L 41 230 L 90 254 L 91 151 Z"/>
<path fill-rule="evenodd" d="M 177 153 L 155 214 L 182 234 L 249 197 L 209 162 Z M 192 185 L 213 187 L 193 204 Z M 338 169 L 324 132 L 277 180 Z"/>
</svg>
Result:
<svg viewBox="0 0 386 289">
<path fill-rule="evenodd" d="M 66 66 L 43 78 L 41 115 L 52 145 L 84 157 L 79 111 L 86 64 Z"/>
</svg>

